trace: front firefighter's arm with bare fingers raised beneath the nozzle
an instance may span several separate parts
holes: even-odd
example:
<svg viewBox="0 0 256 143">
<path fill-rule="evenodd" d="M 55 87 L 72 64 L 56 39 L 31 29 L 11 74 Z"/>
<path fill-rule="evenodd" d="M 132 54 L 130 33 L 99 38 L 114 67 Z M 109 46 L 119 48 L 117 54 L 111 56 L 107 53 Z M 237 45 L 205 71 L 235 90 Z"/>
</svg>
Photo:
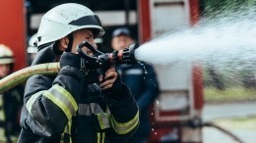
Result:
<svg viewBox="0 0 256 143">
<path fill-rule="evenodd" d="M 115 76 L 113 83 L 109 88 L 103 88 L 103 90 L 108 92 L 106 98 L 110 113 L 109 122 L 113 130 L 113 135 L 110 135 L 110 138 L 121 142 L 137 129 L 139 125 L 139 110 L 129 88 L 121 82 L 117 72 L 113 72 L 115 72 L 113 73 L 114 75 L 112 74 Z M 108 79 L 107 77 L 105 78 Z M 101 84 L 100 86 L 104 87 Z"/>
</svg>

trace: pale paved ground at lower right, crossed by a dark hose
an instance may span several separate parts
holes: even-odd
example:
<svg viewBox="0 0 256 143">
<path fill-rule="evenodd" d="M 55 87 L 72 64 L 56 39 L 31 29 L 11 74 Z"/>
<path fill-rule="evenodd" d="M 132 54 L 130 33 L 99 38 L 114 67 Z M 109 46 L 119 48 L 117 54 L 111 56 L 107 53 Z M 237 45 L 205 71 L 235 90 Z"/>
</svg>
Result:
<svg viewBox="0 0 256 143">
<path fill-rule="evenodd" d="M 214 121 L 244 143 L 256 143 L 256 103 L 206 105 L 203 119 Z M 204 143 L 236 143 L 216 128 L 203 129 Z"/>
</svg>

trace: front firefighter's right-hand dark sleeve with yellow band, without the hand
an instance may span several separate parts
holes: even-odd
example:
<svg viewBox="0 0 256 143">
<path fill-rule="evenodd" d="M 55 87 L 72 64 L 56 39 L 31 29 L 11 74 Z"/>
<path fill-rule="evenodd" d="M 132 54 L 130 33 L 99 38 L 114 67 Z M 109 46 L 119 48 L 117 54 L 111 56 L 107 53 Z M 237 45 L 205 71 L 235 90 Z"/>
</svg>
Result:
<svg viewBox="0 0 256 143">
<path fill-rule="evenodd" d="M 108 97 L 110 130 L 106 137 L 110 142 L 126 142 L 139 126 L 139 109 L 125 84 L 122 84 L 123 99 Z M 116 96 L 117 97 L 117 96 Z"/>
</svg>

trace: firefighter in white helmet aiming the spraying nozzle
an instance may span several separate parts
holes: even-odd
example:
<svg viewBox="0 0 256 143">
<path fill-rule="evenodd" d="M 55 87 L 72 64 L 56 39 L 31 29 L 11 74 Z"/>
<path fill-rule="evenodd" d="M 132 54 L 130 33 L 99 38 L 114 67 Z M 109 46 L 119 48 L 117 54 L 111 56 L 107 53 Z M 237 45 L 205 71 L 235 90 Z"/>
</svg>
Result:
<svg viewBox="0 0 256 143">
<path fill-rule="evenodd" d="M 77 54 L 78 44 L 96 46 L 103 33 L 98 17 L 80 4 L 56 6 L 41 18 L 32 65 L 59 61 L 60 71 L 28 79 L 18 142 L 120 143 L 133 134 L 139 110 L 129 88 L 113 67 L 99 75 Z"/>
</svg>

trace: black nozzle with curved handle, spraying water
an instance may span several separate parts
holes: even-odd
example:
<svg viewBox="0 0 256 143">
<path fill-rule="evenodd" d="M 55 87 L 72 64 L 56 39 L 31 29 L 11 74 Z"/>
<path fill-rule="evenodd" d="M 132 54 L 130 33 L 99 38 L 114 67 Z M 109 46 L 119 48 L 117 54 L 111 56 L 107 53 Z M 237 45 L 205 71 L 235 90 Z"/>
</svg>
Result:
<svg viewBox="0 0 256 143">
<path fill-rule="evenodd" d="M 89 56 L 82 49 L 83 47 L 87 47 L 92 51 L 94 56 Z M 83 41 L 81 44 L 77 46 L 78 54 L 85 59 L 87 67 L 89 69 L 104 69 L 106 67 L 110 67 L 112 65 L 121 65 L 121 64 L 129 64 L 133 65 L 137 63 L 135 58 L 135 50 L 138 48 L 137 44 L 130 45 L 129 47 L 114 51 L 112 53 L 102 53 L 91 45 L 87 41 Z"/>
</svg>

